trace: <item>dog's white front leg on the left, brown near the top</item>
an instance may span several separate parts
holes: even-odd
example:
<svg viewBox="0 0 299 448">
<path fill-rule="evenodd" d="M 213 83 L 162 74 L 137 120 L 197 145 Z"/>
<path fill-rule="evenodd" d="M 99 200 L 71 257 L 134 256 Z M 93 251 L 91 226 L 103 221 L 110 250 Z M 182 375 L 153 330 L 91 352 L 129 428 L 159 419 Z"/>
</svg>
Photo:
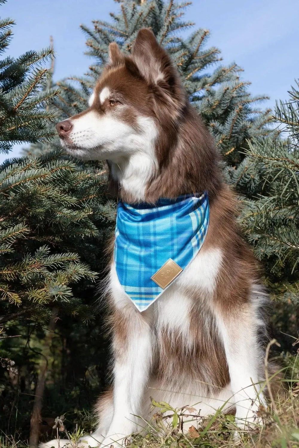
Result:
<svg viewBox="0 0 299 448">
<path fill-rule="evenodd" d="M 108 436 L 102 447 L 123 444 L 123 440 L 142 429 L 144 390 L 152 366 L 153 338 L 149 312 L 140 313 L 133 304 L 114 314 L 114 412 Z"/>
</svg>

